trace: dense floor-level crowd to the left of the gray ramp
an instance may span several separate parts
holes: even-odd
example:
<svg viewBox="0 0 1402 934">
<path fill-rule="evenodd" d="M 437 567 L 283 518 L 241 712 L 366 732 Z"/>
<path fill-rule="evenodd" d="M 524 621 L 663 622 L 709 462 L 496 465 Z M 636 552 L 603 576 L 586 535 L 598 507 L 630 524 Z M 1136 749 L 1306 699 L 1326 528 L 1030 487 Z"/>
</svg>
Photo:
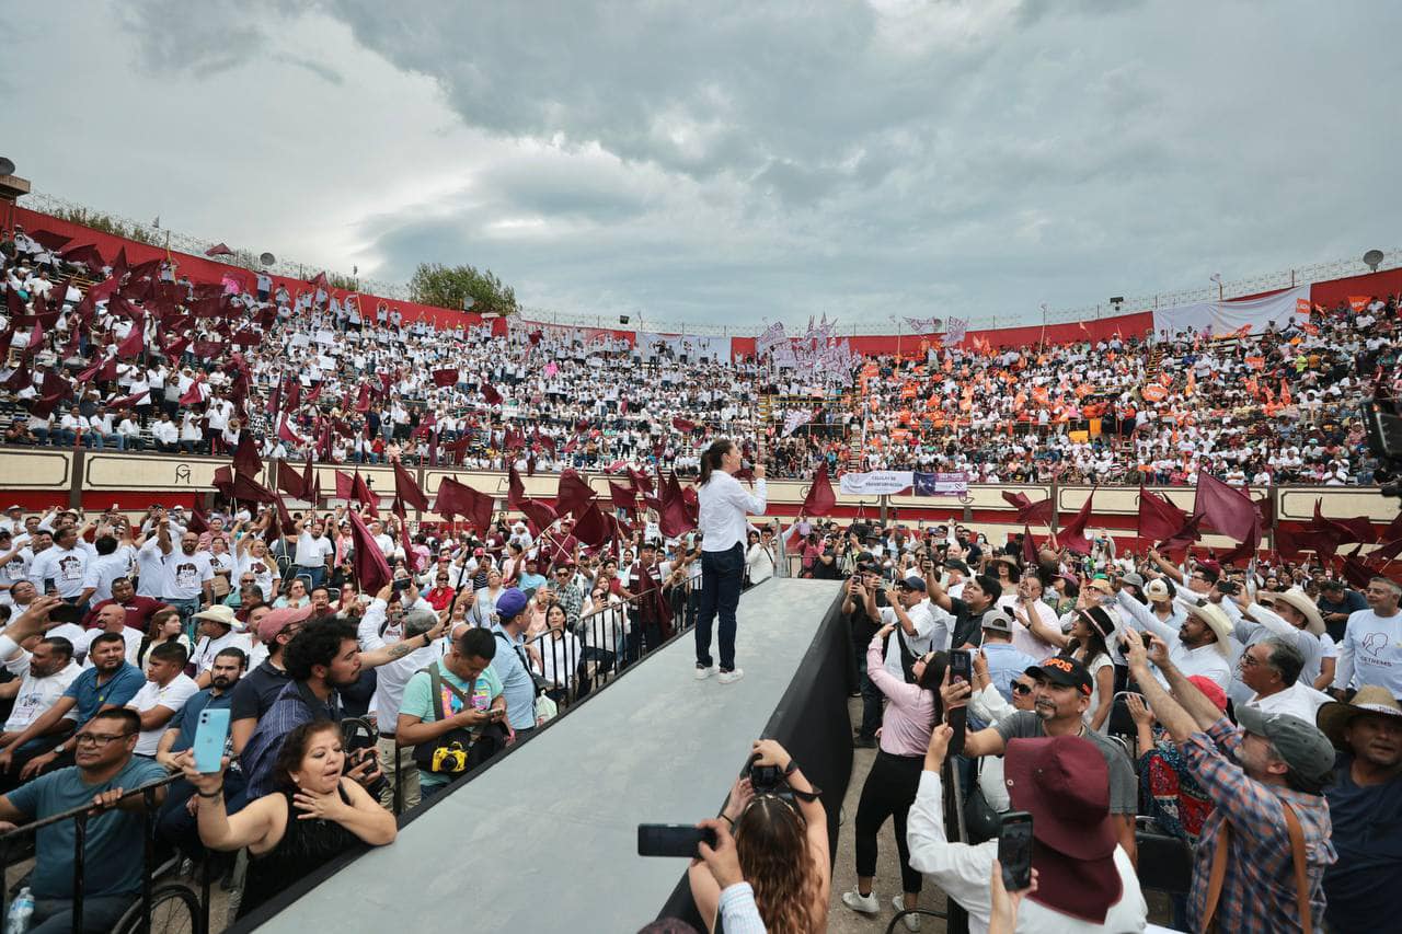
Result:
<svg viewBox="0 0 1402 934">
<path fill-rule="evenodd" d="M 486 534 L 425 527 L 407 543 L 366 515 L 363 547 L 393 568 L 369 592 L 345 508 L 299 513 L 286 534 L 273 517 L 216 505 L 199 527 L 179 506 L 7 510 L 0 820 L 95 794 L 116 806 L 123 790 L 171 778 L 156 802 L 160 846 L 227 868 L 247 914 L 356 841 L 393 840 L 395 813 L 690 625 L 700 599 L 700 540 L 663 540 L 651 522 L 589 548 L 569 516 L 538 536 L 503 515 Z M 773 536 L 749 550 L 768 555 L 746 564 L 749 583 L 787 564 Z M 213 710 L 229 711 L 227 759 L 200 773 L 192 745 Z M 88 825 L 88 930 L 108 930 L 140 889 L 130 808 Z M 64 825 L 36 834 L 35 930 L 72 917 Z M 234 851 L 241 862 L 222 861 Z M 108 864 L 121 871 L 91 868 Z"/>
</svg>

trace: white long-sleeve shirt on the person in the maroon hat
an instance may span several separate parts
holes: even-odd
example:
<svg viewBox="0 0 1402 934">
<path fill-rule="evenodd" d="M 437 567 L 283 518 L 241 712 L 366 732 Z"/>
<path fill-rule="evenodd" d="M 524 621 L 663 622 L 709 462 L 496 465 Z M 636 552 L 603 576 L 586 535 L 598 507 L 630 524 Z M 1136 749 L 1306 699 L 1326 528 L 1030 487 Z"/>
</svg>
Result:
<svg viewBox="0 0 1402 934">
<path fill-rule="evenodd" d="M 932 771 L 920 773 L 920 788 L 910 805 L 906 841 L 910 844 L 910 867 L 931 877 L 945 895 L 963 906 L 969 913 L 970 934 L 987 934 L 993 916 L 988 877 L 993 874 L 993 861 L 998 857 L 998 841 L 988 840 L 977 846 L 949 843 L 945 836 L 944 788 L 939 776 Z M 1028 898 L 1022 899 L 1022 907 L 1018 909 L 1016 930 L 1019 934 L 1143 931 L 1148 903 L 1140 891 L 1134 865 L 1120 846 L 1115 847 L 1115 869 L 1120 875 L 1123 891 L 1120 900 L 1110 906 L 1103 924 L 1074 919 Z"/>
</svg>

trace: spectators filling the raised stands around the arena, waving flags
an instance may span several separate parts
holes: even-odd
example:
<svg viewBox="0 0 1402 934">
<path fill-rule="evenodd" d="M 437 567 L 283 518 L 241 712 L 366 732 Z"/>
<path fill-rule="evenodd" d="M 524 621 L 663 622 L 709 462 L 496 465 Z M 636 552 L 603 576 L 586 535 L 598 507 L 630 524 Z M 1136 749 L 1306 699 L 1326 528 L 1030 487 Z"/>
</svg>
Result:
<svg viewBox="0 0 1402 934">
<path fill-rule="evenodd" d="M 1192 485 L 1207 470 L 1237 485 L 1352 485 L 1375 468 L 1359 402 L 1398 365 L 1396 296 L 1218 341 L 925 342 L 858 359 L 834 383 L 608 332 L 437 331 L 318 283 L 210 292 L 168 264 L 88 271 L 22 230 L 0 264 L 7 445 L 222 453 L 251 432 L 278 459 L 693 475 L 712 438 L 763 431 L 775 477 L 826 461 L 974 482 Z M 101 279 L 101 297 L 86 302 L 74 273 Z"/>
</svg>

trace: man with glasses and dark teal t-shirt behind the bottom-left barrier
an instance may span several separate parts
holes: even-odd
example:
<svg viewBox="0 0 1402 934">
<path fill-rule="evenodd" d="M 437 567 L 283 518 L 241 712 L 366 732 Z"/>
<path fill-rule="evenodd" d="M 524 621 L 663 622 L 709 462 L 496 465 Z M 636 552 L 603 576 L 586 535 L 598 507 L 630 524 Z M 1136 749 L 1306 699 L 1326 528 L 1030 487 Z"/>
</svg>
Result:
<svg viewBox="0 0 1402 934">
<path fill-rule="evenodd" d="M 142 719 L 136 711 L 107 708 L 74 735 L 77 764 L 35 778 L 0 798 L 0 830 L 14 822 L 42 820 L 91 805 L 108 808 L 87 822 L 83 847 L 83 930 L 109 931 L 142 891 L 142 815 L 144 795 L 121 799 L 165 777 L 150 759 L 133 756 Z M 158 808 L 165 788 L 154 792 Z M 4 822 L 10 822 L 6 825 Z M 31 934 L 57 934 L 73 927 L 74 822 L 59 820 L 36 834 L 38 858 L 29 885 L 34 891 Z"/>
</svg>

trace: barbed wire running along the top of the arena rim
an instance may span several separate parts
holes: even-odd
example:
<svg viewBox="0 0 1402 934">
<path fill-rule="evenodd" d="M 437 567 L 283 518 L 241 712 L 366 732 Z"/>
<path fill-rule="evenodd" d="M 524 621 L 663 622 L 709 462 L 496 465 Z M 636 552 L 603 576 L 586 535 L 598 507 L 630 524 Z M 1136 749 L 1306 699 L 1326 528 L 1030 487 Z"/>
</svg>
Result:
<svg viewBox="0 0 1402 934">
<path fill-rule="evenodd" d="M 146 236 L 157 236 L 160 238 L 160 245 L 165 244 L 165 237 L 170 237 L 171 250 L 179 250 L 181 252 L 192 255 L 205 255 L 210 247 L 216 243 L 215 240 L 206 240 L 203 237 L 195 237 L 191 234 L 178 233 L 170 230 L 168 227 L 156 227 L 154 223 L 143 223 L 133 220 L 130 217 L 123 217 L 122 215 L 115 215 L 109 210 L 98 210 L 81 205 L 79 202 L 69 201 L 66 198 L 59 198 L 57 195 L 50 195 L 48 192 L 32 192 L 25 195 L 25 208 L 31 210 L 38 210 L 48 215 L 64 215 L 64 213 L 90 213 L 90 215 L 105 215 L 112 220 L 128 226 L 132 230 L 142 231 Z M 238 251 L 241 255 L 257 257 L 250 250 Z M 241 264 L 236 264 L 241 265 Z M 1378 264 L 1378 271 L 1382 269 L 1396 269 L 1402 266 L 1402 248 L 1392 247 L 1382 251 L 1382 261 Z M 289 276 L 294 279 L 308 279 L 317 272 L 325 271 L 328 276 L 339 276 L 345 280 L 355 280 L 360 292 L 367 295 L 384 296 L 387 299 L 398 299 L 401 302 L 411 302 L 409 289 L 407 285 L 398 285 L 393 282 L 383 282 L 379 279 L 365 279 L 355 275 L 348 275 L 345 272 L 335 272 L 327 269 L 317 264 L 304 264 L 293 259 L 278 259 L 269 266 L 262 266 L 257 264 L 250 268 L 266 268 L 275 275 Z M 1094 321 L 1102 317 L 1113 317 L 1117 314 L 1131 314 L 1136 311 L 1152 311 L 1155 309 L 1171 309 L 1179 304 L 1192 304 L 1195 302 L 1209 302 L 1218 295 L 1224 299 L 1238 299 L 1241 296 L 1256 295 L 1258 292 L 1270 292 L 1274 289 L 1288 289 L 1291 286 L 1312 285 L 1315 282 L 1325 282 L 1329 279 L 1342 279 L 1346 276 L 1364 275 L 1371 272 L 1371 269 L 1361 259 L 1333 259 L 1329 262 L 1315 262 L 1307 266 L 1297 266 L 1294 269 L 1281 269 L 1277 272 L 1267 272 L 1262 275 L 1246 276 L 1242 279 L 1235 279 L 1232 282 L 1223 282 L 1221 290 L 1218 292 L 1217 285 L 1204 286 L 1200 289 L 1180 289 L 1176 292 L 1159 292 L 1159 293 L 1145 293 L 1138 296 L 1124 296 L 1119 303 L 1110 303 L 1106 300 L 1102 304 L 1082 306 L 1078 309 L 1054 309 L 1046 311 L 1044 316 L 1036 314 L 977 314 L 969 316 L 970 330 L 994 330 L 998 327 L 1036 327 L 1043 321 L 1046 324 L 1070 324 L 1074 321 Z M 520 309 L 520 316 L 523 318 L 538 321 L 541 324 L 559 324 L 566 327 L 586 327 L 586 328 L 611 328 L 611 330 L 635 330 L 635 331 L 666 331 L 669 334 L 683 332 L 683 334 L 697 334 L 697 335 L 716 335 L 716 337 L 757 337 L 764 331 L 767 324 L 697 324 L 690 321 L 663 321 L 648 318 L 645 314 L 639 314 L 637 310 L 620 310 L 613 313 L 599 313 L 587 314 L 578 311 L 555 311 L 552 309 L 540 307 L 526 307 Z M 621 318 L 627 317 L 628 321 L 624 323 Z M 945 317 L 949 317 L 946 314 Z M 962 317 L 955 314 L 953 317 Z M 889 318 L 871 320 L 868 316 L 866 321 L 862 323 L 843 323 L 838 321 L 834 334 L 837 337 L 858 337 L 858 335 L 889 335 L 892 334 L 892 321 L 903 321 L 900 316 L 892 316 Z M 802 321 L 785 321 L 785 324 L 799 325 Z M 900 327 L 897 324 L 897 327 Z"/>
</svg>

